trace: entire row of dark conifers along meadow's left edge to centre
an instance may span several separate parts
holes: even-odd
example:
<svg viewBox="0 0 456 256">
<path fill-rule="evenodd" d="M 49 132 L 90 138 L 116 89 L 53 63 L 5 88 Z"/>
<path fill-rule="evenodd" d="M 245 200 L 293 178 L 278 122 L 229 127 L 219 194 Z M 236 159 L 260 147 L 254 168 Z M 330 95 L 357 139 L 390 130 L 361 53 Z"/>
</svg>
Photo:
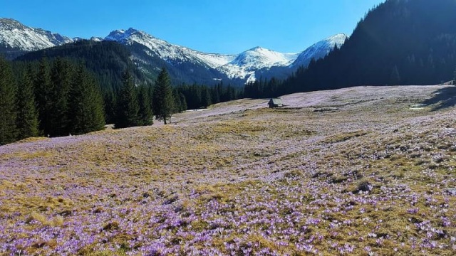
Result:
<svg viewBox="0 0 456 256">
<path fill-rule="evenodd" d="M 170 122 L 172 114 L 242 97 L 228 85 L 173 87 L 162 69 L 154 84 L 138 82 L 126 68 L 121 85 L 104 88 L 82 61 L 41 58 L 11 63 L 0 58 L 0 144 L 27 137 L 85 134 Z"/>
</svg>

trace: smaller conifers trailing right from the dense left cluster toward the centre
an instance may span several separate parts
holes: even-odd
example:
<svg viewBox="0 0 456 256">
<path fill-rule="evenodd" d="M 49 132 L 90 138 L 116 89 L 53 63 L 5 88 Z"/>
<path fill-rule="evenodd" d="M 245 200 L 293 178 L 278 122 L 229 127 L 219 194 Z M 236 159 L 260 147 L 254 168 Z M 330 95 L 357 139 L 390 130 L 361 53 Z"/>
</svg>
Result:
<svg viewBox="0 0 456 256">
<path fill-rule="evenodd" d="M 154 85 L 146 82 L 135 86 L 133 76 L 125 71 L 118 94 L 105 99 L 107 106 L 117 106 L 115 109 L 108 107 L 110 120 L 116 128 L 125 128 L 150 125 L 153 123 L 152 116 L 168 124 L 172 114 L 206 108 L 242 96 L 242 90 L 231 85 L 224 86 L 222 82 L 212 87 L 197 84 L 172 86 L 169 73 L 162 68 Z"/>
</svg>

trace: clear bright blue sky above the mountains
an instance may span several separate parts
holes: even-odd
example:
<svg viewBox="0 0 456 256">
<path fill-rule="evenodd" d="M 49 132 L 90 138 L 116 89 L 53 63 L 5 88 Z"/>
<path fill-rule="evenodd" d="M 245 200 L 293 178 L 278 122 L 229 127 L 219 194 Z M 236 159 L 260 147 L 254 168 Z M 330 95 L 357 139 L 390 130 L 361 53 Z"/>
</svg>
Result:
<svg viewBox="0 0 456 256">
<path fill-rule="evenodd" d="M 261 46 L 296 53 L 356 23 L 384 0 L 0 0 L 0 17 L 69 37 L 130 27 L 207 53 Z"/>
</svg>

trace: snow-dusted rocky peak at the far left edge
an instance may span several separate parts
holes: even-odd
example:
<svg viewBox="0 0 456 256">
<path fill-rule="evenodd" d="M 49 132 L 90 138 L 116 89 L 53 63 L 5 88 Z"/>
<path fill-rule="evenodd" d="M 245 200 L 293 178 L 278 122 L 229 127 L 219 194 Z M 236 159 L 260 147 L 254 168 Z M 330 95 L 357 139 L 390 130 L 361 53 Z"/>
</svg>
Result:
<svg viewBox="0 0 456 256">
<path fill-rule="evenodd" d="M 73 39 L 58 33 L 31 28 L 12 18 L 0 18 L 0 46 L 3 46 L 0 53 L 4 53 L 6 58 L 71 42 Z"/>
</svg>

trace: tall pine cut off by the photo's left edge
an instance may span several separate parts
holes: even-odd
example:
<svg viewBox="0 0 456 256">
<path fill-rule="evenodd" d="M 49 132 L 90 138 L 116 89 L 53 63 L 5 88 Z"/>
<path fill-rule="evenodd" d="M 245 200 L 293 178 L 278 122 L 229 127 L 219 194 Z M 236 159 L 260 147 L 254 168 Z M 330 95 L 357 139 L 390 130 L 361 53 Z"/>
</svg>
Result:
<svg viewBox="0 0 456 256">
<path fill-rule="evenodd" d="M 11 65 L 0 58 L 0 145 L 16 140 L 16 85 Z"/>
</svg>

